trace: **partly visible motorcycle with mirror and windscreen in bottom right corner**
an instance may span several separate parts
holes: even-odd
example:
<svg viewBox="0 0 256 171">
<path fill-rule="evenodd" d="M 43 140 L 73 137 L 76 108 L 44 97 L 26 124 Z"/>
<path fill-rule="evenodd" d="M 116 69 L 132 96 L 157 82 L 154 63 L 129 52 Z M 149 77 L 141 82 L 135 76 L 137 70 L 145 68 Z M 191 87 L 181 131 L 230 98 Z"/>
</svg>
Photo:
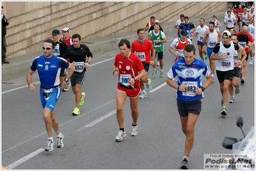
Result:
<svg viewBox="0 0 256 171">
<path fill-rule="evenodd" d="M 219 170 L 255 170 L 255 127 L 248 134 L 243 131 L 243 118 L 237 118 L 237 126 L 241 128 L 244 138 L 225 137 L 223 147 L 232 149 L 232 158 L 225 158 Z"/>
</svg>

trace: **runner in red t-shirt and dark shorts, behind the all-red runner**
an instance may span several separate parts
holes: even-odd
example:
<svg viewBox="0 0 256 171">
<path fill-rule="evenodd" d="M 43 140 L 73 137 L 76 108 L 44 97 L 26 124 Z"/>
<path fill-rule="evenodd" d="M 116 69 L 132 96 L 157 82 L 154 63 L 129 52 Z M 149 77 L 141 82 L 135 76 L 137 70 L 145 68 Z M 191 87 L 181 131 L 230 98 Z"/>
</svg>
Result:
<svg viewBox="0 0 256 171">
<path fill-rule="evenodd" d="M 149 65 L 155 64 L 155 49 L 148 39 L 145 38 L 144 29 L 137 30 L 138 39 L 132 42 L 132 50 L 131 53 L 137 53 L 137 56 L 141 59 L 144 69 L 146 71 L 146 75 L 141 79 L 141 95 L 140 99 L 144 99 L 147 97 L 146 91 L 144 90 L 144 83 L 146 83 L 148 92 L 151 90 L 151 79 L 148 79 L 149 74 Z M 152 59 L 151 53 L 152 52 Z"/>
</svg>

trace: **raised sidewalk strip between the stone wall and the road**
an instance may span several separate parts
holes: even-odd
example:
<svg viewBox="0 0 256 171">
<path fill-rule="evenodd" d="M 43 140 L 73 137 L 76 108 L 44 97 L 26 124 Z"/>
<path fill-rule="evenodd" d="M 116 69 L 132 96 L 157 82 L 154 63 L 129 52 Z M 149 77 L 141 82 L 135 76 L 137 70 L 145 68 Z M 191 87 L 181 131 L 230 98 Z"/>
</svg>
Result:
<svg viewBox="0 0 256 171">
<path fill-rule="evenodd" d="M 226 8 L 223 8 L 223 10 L 216 13 L 210 13 L 208 15 L 200 17 L 191 17 L 189 21 L 198 26 L 200 24 L 200 19 L 203 18 L 205 19 L 205 24 L 208 26 L 210 20 L 212 20 L 212 15 L 217 15 L 219 22 L 223 22 L 225 12 Z M 177 16 L 177 20 L 178 19 L 180 19 L 180 16 Z M 166 35 L 169 33 L 176 33 L 177 30 L 174 28 L 174 26 L 175 22 L 171 22 L 169 24 L 162 24 L 164 33 Z M 147 35 L 148 33 L 146 31 L 145 37 L 147 37 Z M 133 42 L 133 40 L 137 39 L 137 32 L 133 31 L 132 33 L 125 33 L 122 35 L 112 35 L 109 37 L 96 38 L 88 42 L 87 40 L 81 40 L 81 43 L 86 44 L 92 52 L 94 58 L 97 58 L 97 56 L 101 53 L 117 49 L 119 41 L 122 38 L 126 38 L 130 42 Z M 17 77 L 26 76 L 26 73 L 30 69 L 33 59 L 40 55 L 42 55 L 42 52 L 27 54 L 26 56 L 19 56 L 16 58 L 8 59 L 8 61 L 10 61 L 10 64 L 1 65 L 2 81 L 8 81 L 10 79 L 15 79 Z"/>
</svg>

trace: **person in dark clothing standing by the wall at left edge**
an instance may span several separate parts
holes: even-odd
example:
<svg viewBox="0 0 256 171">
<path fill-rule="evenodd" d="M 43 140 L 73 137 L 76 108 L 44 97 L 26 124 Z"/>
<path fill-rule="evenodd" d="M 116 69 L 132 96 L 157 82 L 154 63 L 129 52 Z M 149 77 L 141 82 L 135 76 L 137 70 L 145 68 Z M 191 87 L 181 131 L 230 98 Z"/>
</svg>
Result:
<svg viewBox="0 0 256 171">
<path fill-rule="evenodd" d="M 6 19 L 3 11 L 4 11 L 4 8 L 2 6 L 2 9 L 1 9 L 1 15 L 2 15 L 2 65 L 4 63 L 10 63 L 9 61 L 6 61 L 6 40 L 5 40 L 6 26 L 8 26 L 10 23 L 9 23 L 8 19 Z"/>
</svg>

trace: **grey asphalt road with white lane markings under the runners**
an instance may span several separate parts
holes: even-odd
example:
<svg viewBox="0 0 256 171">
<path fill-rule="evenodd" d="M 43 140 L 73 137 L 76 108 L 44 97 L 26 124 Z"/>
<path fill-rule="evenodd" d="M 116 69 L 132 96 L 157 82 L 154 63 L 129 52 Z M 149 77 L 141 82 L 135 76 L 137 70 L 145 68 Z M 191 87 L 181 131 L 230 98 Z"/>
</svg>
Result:
<svg viewBox="0 0 256 171">
<path fill-rule="evenodd" d="M 72 90 L 62 93 L 55 108 L 60 131 L 65 135 L 62 149 L 55 147 L 51 152 L 44 151 L 47 134 L 37 74 L 33 76 L 33 82 L 37 82 L 35 92 L 28 89 L 25 76 L 2 84 L 1 164 L 15 170 L 180 169 L 185 135 L 176 107 L 176 90 L 166 85 L 167 72 L 174 60 L 168 48 L 176 33 L 166 36 L 164 77 L 160 77 L 160 72 L 155 77 L 151 76 L 153 69 L 150 68 L 153 88 L 146 99 L 139 100 L 139 135 L 135 137 L 130 136 L 132 118 L 130 103 L 126 100 L 124 128 L 127 135 L 122 142 L 115 142 L 119 129 L 115 118 L 117 78 L 112 76 L 118 47 L 115 51 L 94 55 L 81 88 L 86 95 L 80 115 L 71 115 L 74 108 Z M 196 45 L 196 40 L 193 44 Z M 206 62 L 209 65 L 209 60 Z M 157 69 L 160 70 L 159 67 Z M 237 117 L 244 119 L 244 133 L 248 133 L 255 124 L 254 78 L 254 63 L 248 64 L 246 82 L 240 86 L 241 93 L 235 95 L 235 103 L 227 105 L 228 115 L 225 118 L 220 116 L 218 79 L 214 79 L 214 83 L 205 90 L 189 168 L 203 169 L 203 154 L 232 153 L 222 147 L 222 141 L 225 136 L 243 138 L 235 124 Z"/>
</svg>

